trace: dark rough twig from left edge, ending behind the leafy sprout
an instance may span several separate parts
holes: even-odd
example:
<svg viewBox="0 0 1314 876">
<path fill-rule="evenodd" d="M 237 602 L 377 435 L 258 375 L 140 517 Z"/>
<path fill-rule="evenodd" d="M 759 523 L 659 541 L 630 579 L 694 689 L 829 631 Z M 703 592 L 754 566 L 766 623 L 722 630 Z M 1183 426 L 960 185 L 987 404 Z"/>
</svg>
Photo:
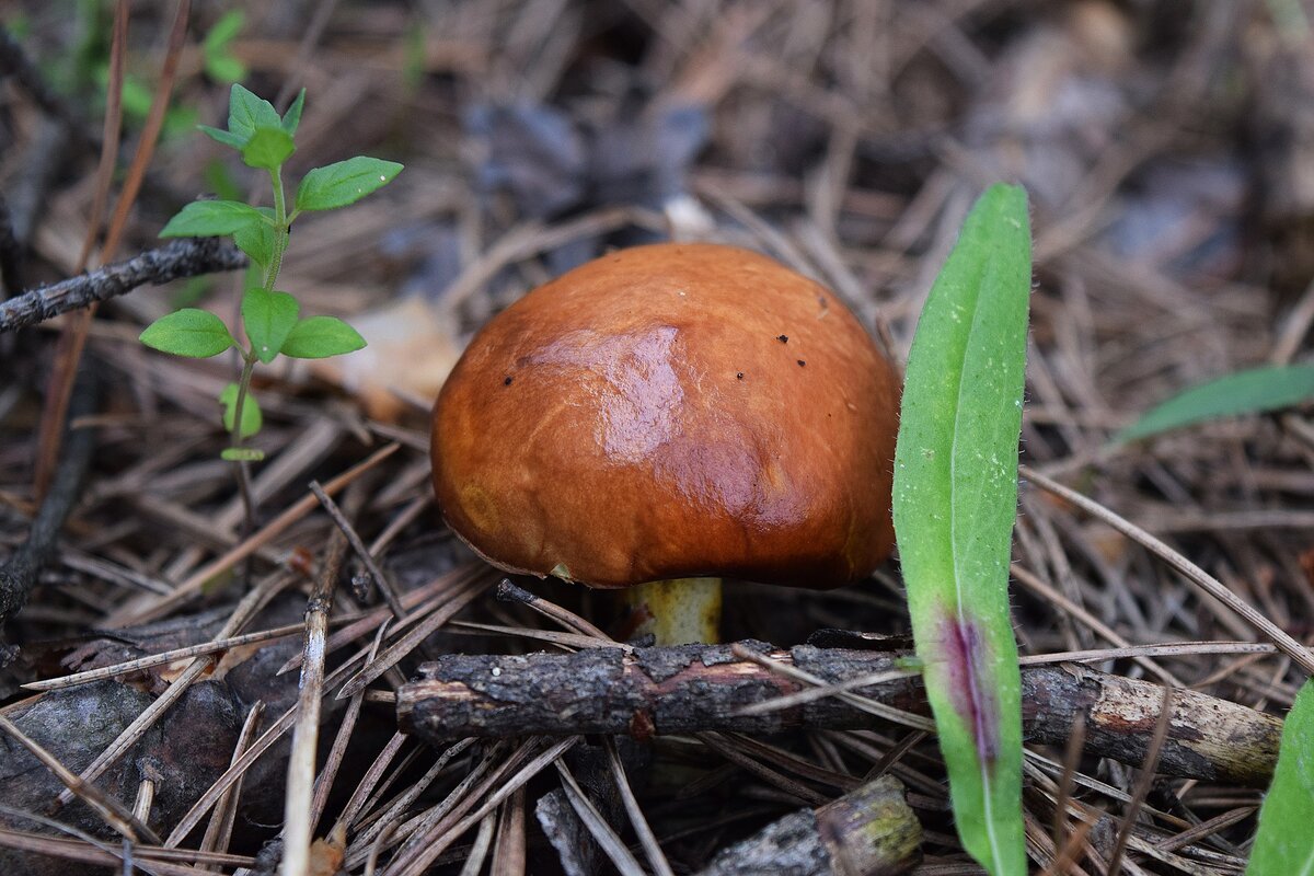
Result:
<svg viewBox="0 0 1314 876">
<path fill-rule="evenodd" d="M 80 277 L 42 286 L 0 303 L 0 332 L 26 328 L 39 322 L 126 294 L 148 282 L 162 284 L 202 273 L 235 271 L 247 259 L 218 238 L 185 238 L 158 250 L 116 261 Z"/>
</svg>

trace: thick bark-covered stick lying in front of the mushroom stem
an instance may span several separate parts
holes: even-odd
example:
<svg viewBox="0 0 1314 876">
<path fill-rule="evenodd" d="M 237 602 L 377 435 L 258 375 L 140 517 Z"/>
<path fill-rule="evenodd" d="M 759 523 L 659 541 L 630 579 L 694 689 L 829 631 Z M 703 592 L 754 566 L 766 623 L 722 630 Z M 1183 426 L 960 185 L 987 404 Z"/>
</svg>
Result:
<svg viewBox="0 0 1314 876">
<path fill-rule="evenodd" d="M 896 672 L 895 657 L 799 646 L 771 650 L 741 642 L 773 661 L 828 683 Z M 447 655 L 419 670 L 397 693 L 402 729 L 434 742 L 526 734 L 656 734 L 790 728 L 858 729 L 875 718 L 838 697 L 763 714 L 746 705 L 794 693 L 800 684 L 740 661 L 729 645 L 598 647 L 576 654 Z M 900 678 L 854 691 L 904 712 L 928 714 L 921 684 Z M 1156 683 L 1099 672 L 1076 663 L 1022 667 L 1024 732 L 1030 742 L 1062 745 L 1085 721 L 1085 753 L 1139 766 L 1163 701 Z M 1282 724 L 1254 709 L 1175 691 L 1159 772 L 1263 787 L 1277 759 Z"/>
</svg>

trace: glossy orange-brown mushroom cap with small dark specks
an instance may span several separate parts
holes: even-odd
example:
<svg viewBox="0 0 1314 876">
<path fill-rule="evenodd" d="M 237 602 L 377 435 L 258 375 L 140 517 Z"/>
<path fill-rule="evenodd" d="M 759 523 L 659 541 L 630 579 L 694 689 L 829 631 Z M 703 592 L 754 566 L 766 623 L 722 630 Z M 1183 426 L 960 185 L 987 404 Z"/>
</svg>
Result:
<svg viewBox="0 0 1314 876">
<path fill-rule="evenodd" d="M 834 587 L 892 549 L 897 411 L 825 288 L 746 250 L 636 247 L 476 335 L 434 406 L 434 486 L 512 571 Z"/>
</svg>

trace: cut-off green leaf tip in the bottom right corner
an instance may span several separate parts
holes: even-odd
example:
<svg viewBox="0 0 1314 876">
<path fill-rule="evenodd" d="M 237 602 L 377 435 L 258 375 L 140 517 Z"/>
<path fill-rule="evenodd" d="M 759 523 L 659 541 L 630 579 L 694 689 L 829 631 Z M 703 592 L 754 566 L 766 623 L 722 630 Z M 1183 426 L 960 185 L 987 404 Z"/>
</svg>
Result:
<svg viewBox="0 0 1314 876">
<path fill-rule="evenodd" d="M 1314 680 L 1296 695 L 1282 726 L 1273 784 L 1259 810 L 1247 876 L 1314 875 Z"/>
</svg>

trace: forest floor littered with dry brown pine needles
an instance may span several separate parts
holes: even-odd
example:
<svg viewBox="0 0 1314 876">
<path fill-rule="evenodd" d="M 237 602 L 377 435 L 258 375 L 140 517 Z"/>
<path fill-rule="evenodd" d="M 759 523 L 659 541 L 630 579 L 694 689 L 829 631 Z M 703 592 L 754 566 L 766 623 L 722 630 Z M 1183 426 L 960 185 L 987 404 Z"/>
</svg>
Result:
<svg viewBox="0 0 1314 876">
<path fill-rule="evenodd" d="M 297 222 L 280 289 L 371 345 L 256 370 L 265 460 L 248 466 L 250 516 L 214 401 L 239 362 L 138 341 L 184 305 L 235 318 L 240 272 L 0 332 L 0 584 L 21 591 L 0 608 L 0 872 L 121 858 L 273 872 L 285 801 L 309 801 L 315 775 L 313 872 L 762 872 L 753 854 L 783 867 L 807 842 L 857 843 L 872 808 L 842 821 L 834 801 L 861 793 L 911 806 L 920 842 L 899 865 L 980 872 L 903 680 L 738 711 L 750 672 L 794 690 L 817 683 L 788 675 L 804 663 L 832 682 L 894 671 L 909 633 L 896 559 L 834 591 L 731 583 L 724 641 L 774 650 L 699 651 L 681 670 L 696 690 L 675 690 L 599 647 L 620 630 L 611 594 L 499 586 L 447 532 L 428 412 L 490 315 L 593 256 L 673 236 L 820 280 L 901 362 L 996 180 L 1026 186 L 1034 231 L 1021 454 L 1035 477 L 1012 566 L 1034 872 L 1244 869 L 1305 679 L 1271 633 L 1314 641 L 1311 408 L 1112 437 L 1201 381 L 1310 361 L 1314 38 L 1297 0 L 194 4 L 172 53 L 175 4 L 122 5 L 117 55 L 114 4 L 0 14 L 3 297 L 163 246 L 196 197 L 259 190 L 194 131 L 222 123 L 234 72 L 280 110 L 306 88 L 293 177 L 359 154 L 405 171 Z M 229 39 L 221 5 L 244 14 Z M 127 88 L 106 162 L 112 55 Z M 147 109 L 171 66 L 156 142 Z M 1205 595 L 1148 536 L 1259 619 Z M 325 587 L 327 678 L 298 668 L 307 595 Z M 543 649 L 606 651 L 608 684 L 633 680 L 679 720 L 548 726 L 530 714 L 548 690 L 533 687 L 506 696 L 523 714 L 398 732 L 398 704 L 431 692 L 402 688 L 426 661 L 528 671 L 497 661 Z M 552 666 L 530 666 L 548 684 Z M 895 708 L 871 714 L 876 701 Z M 293 735 L 318 741 L 318 771 L 289 768 Z M 897 781 L 872 792 L 879 776 Z M 758 833 L 800 809 L 816 814 L 798 835 Z"/>
</svg>

